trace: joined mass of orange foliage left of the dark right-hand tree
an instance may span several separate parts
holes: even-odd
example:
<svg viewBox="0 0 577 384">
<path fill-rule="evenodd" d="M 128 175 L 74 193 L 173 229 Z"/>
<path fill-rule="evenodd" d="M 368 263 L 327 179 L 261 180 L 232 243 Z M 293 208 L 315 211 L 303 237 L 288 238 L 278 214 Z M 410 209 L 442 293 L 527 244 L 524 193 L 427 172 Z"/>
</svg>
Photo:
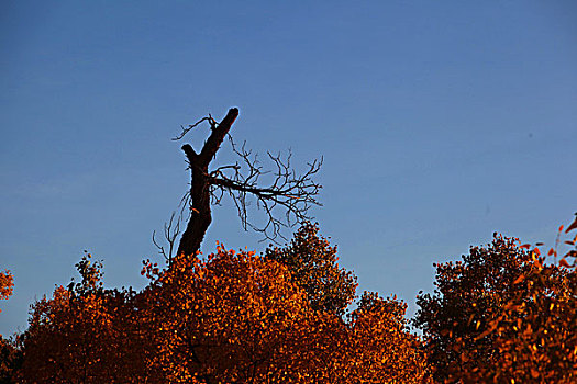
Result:
<svg viewBox="0 0 577 384">
<path fill-rule="evenodd" d="M 297 261 L 297 247 L 307 250 Z M 225 249 L 146 261 L 138 293 L 106 290 L 86 255 L 81 276 L 33 305 L 20 336 L 25 383 L 420 383 L 428 368 L 407 306 L 365 294 L 335 248 L 306 225 L 263 256 Z M 278 259 L 278 260 L 277 260 Z M 281 260 L 292 260 L 284 263 Z M 293 273 L 296 266 L 300 274 Z"/>
</svg>

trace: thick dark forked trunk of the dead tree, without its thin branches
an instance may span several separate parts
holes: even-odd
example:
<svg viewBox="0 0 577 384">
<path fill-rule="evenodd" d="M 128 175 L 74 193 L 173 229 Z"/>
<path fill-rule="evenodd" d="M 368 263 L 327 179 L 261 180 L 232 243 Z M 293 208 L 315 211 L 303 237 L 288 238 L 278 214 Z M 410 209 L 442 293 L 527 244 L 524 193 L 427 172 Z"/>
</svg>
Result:
<svg viewBox="0 0 577 384">
<path fill-rule="evenodd" d="M 188 162 L 190 165 L 190 199 L 191 215 L 187 228 L 180 238 L 178 245 L 178 255 L 196 255 L 200 249 L 200 244 L 204 234 L 212 222 L 210 210 L 210 187 L 209 163 L 212 161 L 219 150 L 224 137 L 231 129 L 232 124 L 238 116 L 238 110 L 233 108 L 229 110 L 226 116 L 212 131 L 211 135 L 204 143 L 200 154 L 188 144 L 182 146 Z"/>
</svg>

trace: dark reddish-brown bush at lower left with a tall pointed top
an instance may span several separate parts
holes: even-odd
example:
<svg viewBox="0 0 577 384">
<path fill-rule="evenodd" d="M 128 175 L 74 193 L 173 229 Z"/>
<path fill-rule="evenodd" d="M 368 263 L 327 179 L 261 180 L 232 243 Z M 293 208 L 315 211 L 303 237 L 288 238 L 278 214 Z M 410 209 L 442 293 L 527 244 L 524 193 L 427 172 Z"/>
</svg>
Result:
<svg viewBox="0 0 577 384">
<path fill-rule="evenodd" d="M 32 306 L 20 336 L 20 372 L 31 383 L 138 383 L 146 375 L 133 291 L 104 290 L 101 264 L 87 255 L 81 282 L 58 286 Z M 138 375 L 141 375 L 138 377 Z"/>
</svg>

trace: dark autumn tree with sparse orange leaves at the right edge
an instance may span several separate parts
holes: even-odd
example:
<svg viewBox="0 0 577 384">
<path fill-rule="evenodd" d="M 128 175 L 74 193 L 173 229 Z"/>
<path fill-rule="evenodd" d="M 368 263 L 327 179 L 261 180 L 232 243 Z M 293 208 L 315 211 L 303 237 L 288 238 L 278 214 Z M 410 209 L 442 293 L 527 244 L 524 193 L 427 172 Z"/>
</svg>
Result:
<svg viewBox="0 0 577 384">
<path fill-rule="evenodd" d="M 577 221 L 569 228 L 575 226 Z M 576 240 L 565 244 L 575 247 Z M 435 381 L 576 382 L 575 256 L 569 250 L 547 263 L 539 248 L 495 236 L 462 261 L 437 264 L 436 290 L 418 296 L 413 319 Z"/>
</svg>

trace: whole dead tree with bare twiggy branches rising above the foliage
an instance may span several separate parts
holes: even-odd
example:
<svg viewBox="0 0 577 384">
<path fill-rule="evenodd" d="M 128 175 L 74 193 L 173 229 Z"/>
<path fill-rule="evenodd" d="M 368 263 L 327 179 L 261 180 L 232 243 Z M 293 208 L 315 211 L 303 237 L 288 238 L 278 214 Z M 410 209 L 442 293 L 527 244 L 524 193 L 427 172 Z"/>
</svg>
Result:
<svg viewBox="0 0 577 384">
<path fill-rule="evenodd" d="M 169 244 L 168 255 L 156 242 L 153 234 L 153 241 L 168 262 L 173 257 L 171 249 L 180 230 L 180 221 L 186 221 L 182 215 L 188 217 L 188 224 L 180 238 L 177 253 L 196 255 L 212 222 L 211 205 L 219 205 L 225 195 L 230 196 L 236 205 L 244 229 L 257 230 L 270 240 L 277 237 L 284 238 L 280 231 L 282 227 L 311 219 L 308 215 L 309 208 L 312 205 L 321 205 L 317 201 L 321 185 L 314 182 L 312 177 L 319 172 L 322 158 L 308 163 L 307 170 L 302 174 L 297 174 L 290 165 L 290 151 L 286 159 L 280 155 L 267 153 L 274 170 L 265 171 L 257 156 L 247 150 L 244 144 L 235 145 L 230 136 L 229 131 L 237 116 L 238 110 L 235 108 L 229 110 L 220 123 L 209 115 L 196 124 L 182 127 L 180 135 L 174 138 L 174 140 L 182 139 L 188 132 L 200 126 L 201 123 L 210 125 L 210 136 L 199 153 L 189 144 L 182 146 L 190 169 L 190 190 L 182 197 L 179 218 L 174 222 L 173 213 L 170 223 L 165 225 L 164 235 Z M 226 137 L 238 161 L 210 170 L 209 166 Z M 262 177 L 265 174 L 268 174 L 269 182 L 263 187 L 259 181 L 262 182 Z M 263 225 L 254 224 L 248 217 L 247 207 L 254 202 L 265 214 Z"/>
</svg>

